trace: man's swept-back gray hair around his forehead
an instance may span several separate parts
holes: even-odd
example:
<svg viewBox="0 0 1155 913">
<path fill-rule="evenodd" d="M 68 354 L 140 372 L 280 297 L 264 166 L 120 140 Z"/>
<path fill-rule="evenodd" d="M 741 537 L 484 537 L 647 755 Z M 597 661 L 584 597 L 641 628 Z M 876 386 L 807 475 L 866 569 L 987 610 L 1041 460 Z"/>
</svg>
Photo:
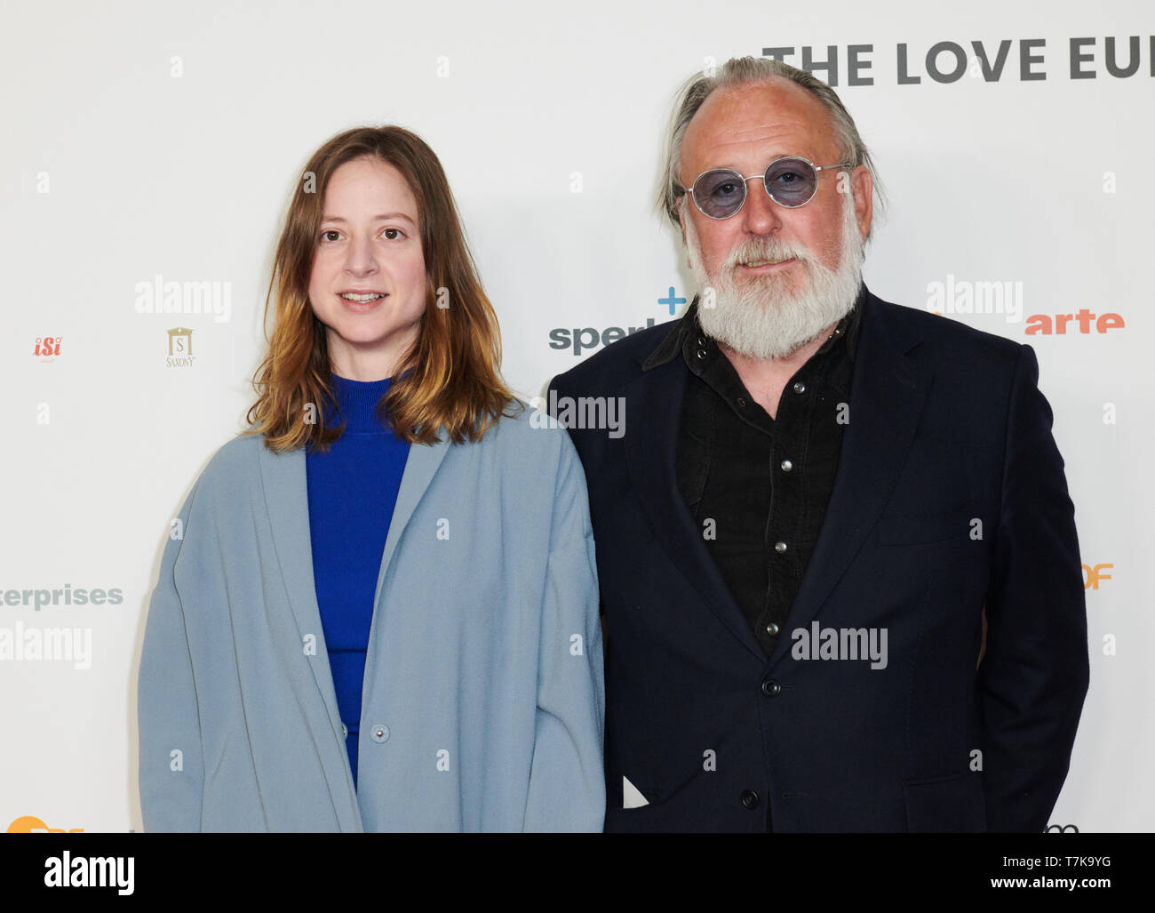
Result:
<svg viewBox="0 0 1155 913">
<path fill-rule="evenodd" d="M 850 117 L 850 112 L 843 106 L 834 89 L 806 70 L 792 67 L 781 60 L 765 57 L 735 57 L 718 68 L 717 75 L 706 76 L 701 72 L 695 73 L 678 90 L 678 101 L 675 104 L 666 132 L 665 166 L 662 171 L 662 187 L 657 199 L 657 208 L 669 216 L 675 228 L 680 229 L 681 227 L 678 221 L 678 207 L 681 203 L 681 198 L 686 195 L 686 187 L 681 186 L 678 177 L 678 169 L 681 164 L 681 140 L 686 135 L 690 121 L 698 113 L 698 109 L 717 89 L 758 84 L 766 82 L 772 76 L 784 76 L 806 89 L 822 103 L 830 113 L 834 140 L 839 147 L 841 161 L 850 163 L 854 168 L 866 165 L 874 181 L 878 208 L 879 210 L 885 208 L 886 195 L 878 172 L 874 170 L 870 150 L 862 136 L 858 135 L 854 118 Z M 871 232 L 873 232 L 873 223 Z M 870 240 L 871 232 L 866 235 L 867 240 Z"/>
</svg>

